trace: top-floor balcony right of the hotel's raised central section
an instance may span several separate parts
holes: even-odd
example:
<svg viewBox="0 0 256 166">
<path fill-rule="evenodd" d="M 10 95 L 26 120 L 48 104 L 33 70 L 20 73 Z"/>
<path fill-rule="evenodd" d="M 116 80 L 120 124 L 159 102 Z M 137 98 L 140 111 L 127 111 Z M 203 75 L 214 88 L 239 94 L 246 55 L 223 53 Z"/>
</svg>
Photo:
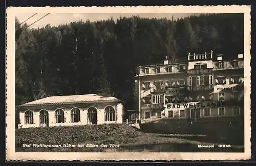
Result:
<svg viewBox="0 0 256 166">
<path fill-rule="evenodd" d="M 243 69 L 244 61 L 236 60 L 236 61 L 221 61 L 214 63 L 214 71 L 216 70 L 229 70 L 229 69 Z"/>
</svg>

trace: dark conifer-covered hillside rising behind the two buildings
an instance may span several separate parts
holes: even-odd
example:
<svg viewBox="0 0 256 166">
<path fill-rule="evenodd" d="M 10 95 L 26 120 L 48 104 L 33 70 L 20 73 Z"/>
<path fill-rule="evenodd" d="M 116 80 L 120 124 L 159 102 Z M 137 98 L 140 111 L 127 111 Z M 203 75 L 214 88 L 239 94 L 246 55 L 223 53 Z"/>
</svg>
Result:
<svg viewBox="0 0 256 166">
<path fill-rule="evenodd" d="M 16 20 L 16 104 L 53 95 L 109 93 L 133 109 L 139 65 L 210 50 L 243 53 L 243 14 L 178 20 L 134 16 L 26 29 Z"/>
</svg>

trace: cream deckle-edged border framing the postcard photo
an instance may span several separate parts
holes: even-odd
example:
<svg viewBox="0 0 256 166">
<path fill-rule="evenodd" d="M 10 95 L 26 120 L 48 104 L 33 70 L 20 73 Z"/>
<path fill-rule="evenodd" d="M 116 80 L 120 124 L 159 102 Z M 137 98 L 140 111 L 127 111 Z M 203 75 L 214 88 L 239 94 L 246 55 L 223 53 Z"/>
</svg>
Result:
<svg viewBox="0 0 256 166">
<path fill-rule="evenodd" d="M 15 15 L 18 13 L 244 13 L 244 153 L 15 152 Z M 9 7 L 6 49 L 6 160 L 234 160 L 251 157 L 250 6 Z"/>
</svg>

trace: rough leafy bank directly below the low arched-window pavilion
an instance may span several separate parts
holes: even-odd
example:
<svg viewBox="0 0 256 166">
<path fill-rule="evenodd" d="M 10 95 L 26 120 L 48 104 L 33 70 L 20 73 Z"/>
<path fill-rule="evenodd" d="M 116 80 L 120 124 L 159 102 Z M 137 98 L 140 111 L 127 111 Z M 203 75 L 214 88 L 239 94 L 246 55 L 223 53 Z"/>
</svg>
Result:
<svg viewBox="0 0 256 166">
<path fill-rule="evenodd" d="M 123 140 L 142 133 L 125 124 L 59 126 L 16 129 L 16 146 L 22 144 L 69 144 L 86 141 Z"/>
</svg>

